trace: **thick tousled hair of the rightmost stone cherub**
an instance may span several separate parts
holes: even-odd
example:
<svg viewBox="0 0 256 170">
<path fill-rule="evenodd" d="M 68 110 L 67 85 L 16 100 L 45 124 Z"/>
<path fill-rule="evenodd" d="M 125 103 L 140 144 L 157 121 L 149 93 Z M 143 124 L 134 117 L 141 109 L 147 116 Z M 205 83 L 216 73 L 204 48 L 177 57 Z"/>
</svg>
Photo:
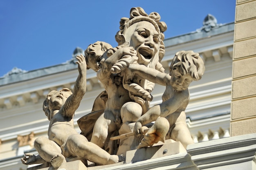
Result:
<svg viewBox="0 0 256 170">
<path fill-rule="evenodd" d="M 195 81 L 200 80 L 205 71 L 202 58 L 193 51 L 177 52 L 171 62 L 170 72 L 173 68 L 178 68 L 182 75 L 189 73 Z"/>
</svg>

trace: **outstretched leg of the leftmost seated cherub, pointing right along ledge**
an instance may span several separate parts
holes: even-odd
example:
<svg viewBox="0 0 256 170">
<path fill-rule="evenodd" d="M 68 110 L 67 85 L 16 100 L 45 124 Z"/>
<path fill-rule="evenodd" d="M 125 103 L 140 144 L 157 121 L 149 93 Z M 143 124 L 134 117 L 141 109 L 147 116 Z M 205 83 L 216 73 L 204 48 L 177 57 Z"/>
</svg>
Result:
<svg viewBox="0 0 256 170">
<path fill-rule="evenodd" d="M 120 159 L 120 156 L 110 155 L 99 146 L 92 142 L 88 142 L 86 137 L 79 134 L 71 135 L 67 139 L 66 147 L 72 155 L 78 156 L 79 159 L 87 159 L 99 165 L 107 165 L 124 161 Z"/>
</svg>

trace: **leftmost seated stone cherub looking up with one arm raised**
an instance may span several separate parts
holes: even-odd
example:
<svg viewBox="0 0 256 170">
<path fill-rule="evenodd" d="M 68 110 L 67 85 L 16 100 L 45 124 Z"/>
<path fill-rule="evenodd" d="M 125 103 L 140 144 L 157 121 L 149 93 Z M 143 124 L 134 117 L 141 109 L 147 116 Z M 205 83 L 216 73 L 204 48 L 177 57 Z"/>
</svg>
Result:
<svg viewBox="0 0 256 170">
<path fill-rule="evenodd" d="M 54 168 L 69 159 L 79 159 L 85 165 L 87 160 L 99 165 L 117 163 L 121 158 L 110 155 L 99 146 L 88 142 L 74 129 L 74 113 L 86 91 L 86 62 L 83 55 L 77 55 L 79 75 L 73 92 L 67 88 L 51 91 L 43 103 L 43 110 L 50 124 L 48 137 L 38 137 L 34 147 L 39 155 L 26 154 L 21 159 L 26 165 L 49 162 Z M 66 160 L 67 159 L 67 160 Z"/>
</svg>

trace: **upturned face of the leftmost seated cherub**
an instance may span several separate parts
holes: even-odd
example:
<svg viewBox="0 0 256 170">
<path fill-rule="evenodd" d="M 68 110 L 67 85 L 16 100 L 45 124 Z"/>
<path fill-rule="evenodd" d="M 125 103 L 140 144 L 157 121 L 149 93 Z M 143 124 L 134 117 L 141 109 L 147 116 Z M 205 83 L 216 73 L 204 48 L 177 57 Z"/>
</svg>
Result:
<svg viewBox="0 0 256 170">
<path fill-rule="evenodd" d="M 63 88 L 60 91 L 54 93 L 51 98 L 49 99 L 49 105 L 52 109 L 60 109 L 63 104 L 65 104 L 68 97 L 72 95 L 72 92 L 67 89 Z"/>
</svg>

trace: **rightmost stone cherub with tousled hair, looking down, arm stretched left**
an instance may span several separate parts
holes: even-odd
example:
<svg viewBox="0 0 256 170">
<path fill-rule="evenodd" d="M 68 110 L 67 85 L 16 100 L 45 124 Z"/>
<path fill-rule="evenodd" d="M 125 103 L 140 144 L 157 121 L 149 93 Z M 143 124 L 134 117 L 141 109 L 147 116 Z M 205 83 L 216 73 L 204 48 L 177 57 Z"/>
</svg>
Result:
<svg viewBox="0 0 256 170">
<path fill-rule="evenodd" d="M 193 144 L 193 139 L 186 126 L 184 110 L 189 104 L 189 85 L 193 80 L 200 80 L 205 70 L 199 54 L 193 51 L 177 52 L 171 63 L 169 74 L 135 64 L 130 65 L 128 70 L 132 75 L 144 76 L 149 81 L 166 86 L 162 104 L 153 106 L 136 121 L 135 134 L 141 134 L 142 125 L 155 121 L 158 117 L 165 117 L 170 124 L 166 139 L 180 141 L 184 148 L 188 144 Z M 155 135 L 157 135 L 157 128 L 148 130 L 138 148 L 152 145 L 152 139 L 156 138 Z M 154 143 L 157 142 L 154 141 Z"/>
</svg>

